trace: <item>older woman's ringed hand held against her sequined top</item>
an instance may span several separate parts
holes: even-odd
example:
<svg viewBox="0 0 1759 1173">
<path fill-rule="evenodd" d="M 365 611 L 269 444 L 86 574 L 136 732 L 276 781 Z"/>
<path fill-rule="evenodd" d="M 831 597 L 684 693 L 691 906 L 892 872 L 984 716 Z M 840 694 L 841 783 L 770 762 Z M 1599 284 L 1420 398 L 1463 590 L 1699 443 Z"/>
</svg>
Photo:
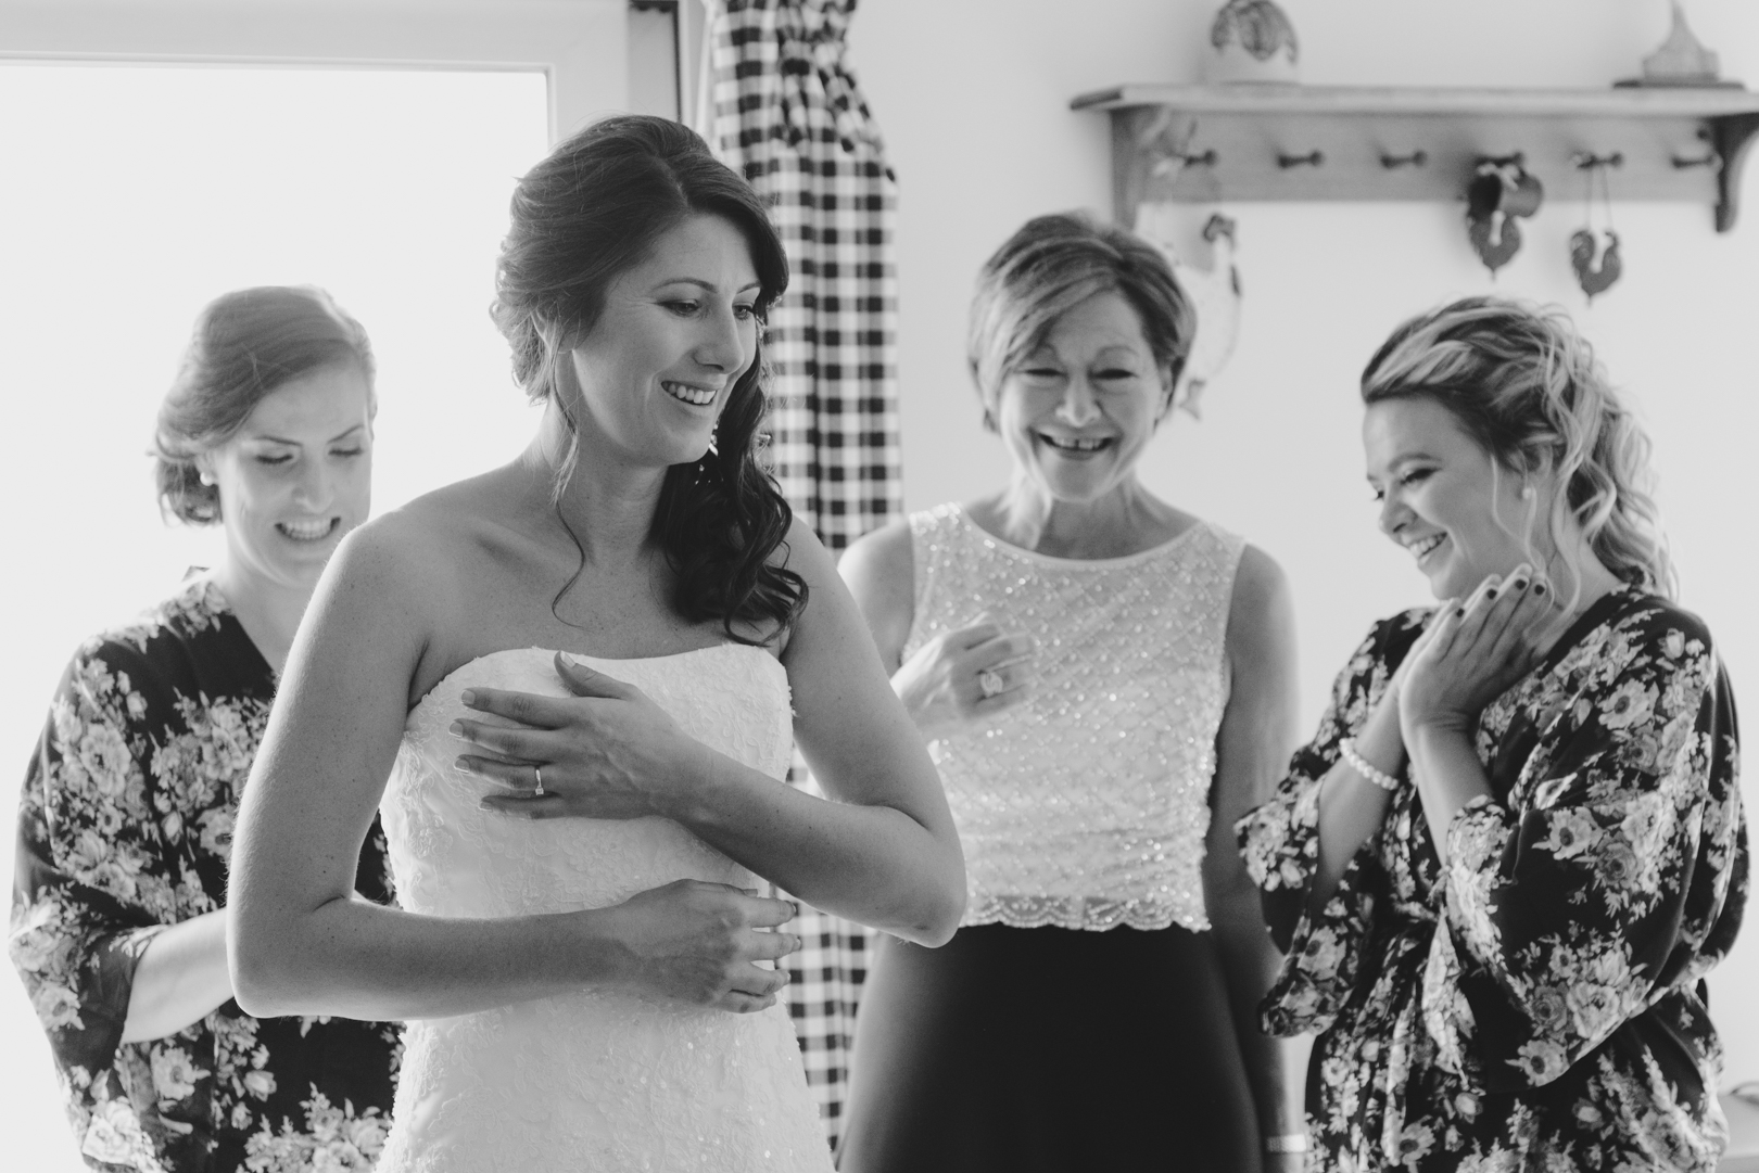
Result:
<svg viewBox="0 0 1759 1173">
<path fill-rule="evenodd" d="M 892 691 L 929 740 L 1013 709 L 1038 682 L 1038 642 L 987 619 L 945 631 L 892 674 Z"/>
</svg>

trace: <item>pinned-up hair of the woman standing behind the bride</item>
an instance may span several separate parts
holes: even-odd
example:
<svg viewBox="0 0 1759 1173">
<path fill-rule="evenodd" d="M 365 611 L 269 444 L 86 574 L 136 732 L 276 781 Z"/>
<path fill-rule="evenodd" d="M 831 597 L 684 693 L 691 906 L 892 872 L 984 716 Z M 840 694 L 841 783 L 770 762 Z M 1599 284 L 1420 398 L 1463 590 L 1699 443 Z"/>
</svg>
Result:
<svg viewBox="0 0 1759 1173">
<path fill-rule="evenodd" d="M 220 521 L 220 489 L 195 461 L 225 443 L 257 404 L 311 371 L 355 366 L 373 399 L 373 346 L 361 324 L 310 285 L 262 285 L 202 308 L 153 434 L 158 508 L 193 526 Z"/>
</svg>

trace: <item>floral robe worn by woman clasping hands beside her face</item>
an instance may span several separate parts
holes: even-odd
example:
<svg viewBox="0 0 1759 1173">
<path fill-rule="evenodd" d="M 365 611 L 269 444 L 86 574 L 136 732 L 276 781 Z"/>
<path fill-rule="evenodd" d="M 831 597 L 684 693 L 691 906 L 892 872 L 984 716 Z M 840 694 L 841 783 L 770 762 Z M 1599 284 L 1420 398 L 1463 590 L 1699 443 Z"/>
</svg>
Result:
<svg viewBox="0 0 1759 1173">
<path fill-rule="evenodd" d="M 1286 958 L 1265 1029 L 1316 1032 L 1312 1169 L 1715 1168 L 1720 1048 L 1701 978 L 1747 888 L 1734 698 L 1703 623 L 1595 601 L 1479 716 L 1492 797 L 1448 827 L 1416 790 L 1323 909 L 1319 781 L 1432 612 L 1376 624 L 1317 737 L 1237 830 Z"/>
</svg>

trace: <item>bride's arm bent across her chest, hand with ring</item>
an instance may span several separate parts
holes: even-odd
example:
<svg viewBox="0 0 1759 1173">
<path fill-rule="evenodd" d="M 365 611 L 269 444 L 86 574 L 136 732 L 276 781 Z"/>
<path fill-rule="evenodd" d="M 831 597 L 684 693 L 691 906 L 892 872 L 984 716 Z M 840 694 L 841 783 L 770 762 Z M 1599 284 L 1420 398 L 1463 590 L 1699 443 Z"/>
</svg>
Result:
<svg viewBox="0 0 1759 1173">
<path fill-rule="evenodd" d="M 691 740 L 640 689 L 563 656 L 558 672 L 572 698 L 466 695 L 471 709 L 519 726 L 461 721 L 466 749 L 487 754 L 468 751 L 459 765 L 501 783 L 507 791 L 485 804 L 508 814 L 660 814 L 821 909 L 941 944 L 966 902 L 941 779 L 830 554 L 800 524 L 788 547 L 809 596 L 781 663 L 795 740 L 832 802 Z M 542 797 L 531 763 L 544 774 Z"/>
</svg>

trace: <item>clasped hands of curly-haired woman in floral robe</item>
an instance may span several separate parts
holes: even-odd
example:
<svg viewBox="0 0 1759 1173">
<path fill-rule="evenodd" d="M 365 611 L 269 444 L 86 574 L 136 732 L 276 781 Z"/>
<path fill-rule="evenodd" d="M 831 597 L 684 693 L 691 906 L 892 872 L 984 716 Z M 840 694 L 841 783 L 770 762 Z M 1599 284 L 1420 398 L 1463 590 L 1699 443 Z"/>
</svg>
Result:
<svg viewBox="0 0 1759 1173">
<path fill-rule="evenodd" d="M 1405 744 L 1414 744 L 1414 730 L 1425 725 L 1471 733 L 1485 705 L 1539 663 L 1555 612 L 1555 591 L 1527 563 L 1507 579 L 1486 577 L 1463 603 L 1442 605 L 1400 668 Z"/>
</svg>

